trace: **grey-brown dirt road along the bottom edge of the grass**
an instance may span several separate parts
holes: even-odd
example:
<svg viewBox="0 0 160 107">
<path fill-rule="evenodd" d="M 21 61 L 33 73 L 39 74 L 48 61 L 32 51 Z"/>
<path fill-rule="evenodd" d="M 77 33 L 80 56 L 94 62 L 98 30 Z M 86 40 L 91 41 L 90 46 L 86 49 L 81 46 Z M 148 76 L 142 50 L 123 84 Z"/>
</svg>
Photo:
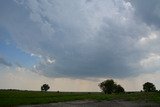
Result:
<svg viewBox="0 0 160 107">
<path fill-rule="evenodd" d="M 72 101 L 72 102 L 60 102 L 40 105 L 26 105 L 19 107 L 160 107 L 155 103 L 134 103 L 129 101 Z"/>
</svg>

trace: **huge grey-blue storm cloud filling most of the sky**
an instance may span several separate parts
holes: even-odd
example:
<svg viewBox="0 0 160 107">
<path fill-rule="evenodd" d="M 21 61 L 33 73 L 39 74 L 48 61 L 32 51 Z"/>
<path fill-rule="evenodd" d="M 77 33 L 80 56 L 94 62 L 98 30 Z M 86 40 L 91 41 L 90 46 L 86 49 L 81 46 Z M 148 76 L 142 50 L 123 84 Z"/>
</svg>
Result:
<svg viewBox="0 0 160 107">
<path fill-rule="evenodd" d="M 41 56 L 33 70 L 42 75 L 128 77 L 160 65 L 159 5 L 152 9 L 157 1 L 141 2 L 16 0 L 7 14 L 14 17 L 1 23 L 20 49 Z"/>
</svg>

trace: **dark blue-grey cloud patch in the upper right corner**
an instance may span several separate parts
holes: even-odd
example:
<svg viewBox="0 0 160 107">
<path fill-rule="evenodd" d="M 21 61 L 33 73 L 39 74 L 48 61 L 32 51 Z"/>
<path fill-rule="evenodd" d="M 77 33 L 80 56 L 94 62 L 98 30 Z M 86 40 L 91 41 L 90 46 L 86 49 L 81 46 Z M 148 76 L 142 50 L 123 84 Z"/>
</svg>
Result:
<svg viewBox="0 0 160 107">
<path fill-rule="evenodd" d="M 159 0 L 131 0 L 137 17 L 149 25 L 160 27 L 160 1 Z"/>
</svg>

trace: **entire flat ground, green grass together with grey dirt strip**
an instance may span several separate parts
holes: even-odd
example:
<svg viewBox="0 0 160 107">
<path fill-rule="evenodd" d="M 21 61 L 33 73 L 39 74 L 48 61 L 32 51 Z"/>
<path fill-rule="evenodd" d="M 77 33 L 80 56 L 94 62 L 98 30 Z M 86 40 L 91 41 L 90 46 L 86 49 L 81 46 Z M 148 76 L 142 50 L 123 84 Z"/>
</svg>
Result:
<svg viewBox="0 0 160 107">
<path fill-rule="evenodd" d="M 100 92 L 0 91 L 0 107 L 103 107 L 107 104 L 110 107 L 125 107 L 126 104 L 131 107 L 157 107 L 160 106 L 160 93 L 127 92 L 109 95 Z"/>
</svg>

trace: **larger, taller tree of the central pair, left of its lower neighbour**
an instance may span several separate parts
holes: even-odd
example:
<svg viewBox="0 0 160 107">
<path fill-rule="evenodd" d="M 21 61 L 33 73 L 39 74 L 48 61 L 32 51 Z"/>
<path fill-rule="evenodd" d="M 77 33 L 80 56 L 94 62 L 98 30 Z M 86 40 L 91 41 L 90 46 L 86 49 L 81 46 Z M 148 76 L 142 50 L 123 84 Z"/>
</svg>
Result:
<svg viewBox="0 0 160 107">
<path fill-rule="evenodd" d="M 101 90 L 106 94 L 111 94 L 114 90 L 115 83 L 111 80 L 105 80 L 102 83 L 99 84 L 99 87 Z"/>
</svg>

